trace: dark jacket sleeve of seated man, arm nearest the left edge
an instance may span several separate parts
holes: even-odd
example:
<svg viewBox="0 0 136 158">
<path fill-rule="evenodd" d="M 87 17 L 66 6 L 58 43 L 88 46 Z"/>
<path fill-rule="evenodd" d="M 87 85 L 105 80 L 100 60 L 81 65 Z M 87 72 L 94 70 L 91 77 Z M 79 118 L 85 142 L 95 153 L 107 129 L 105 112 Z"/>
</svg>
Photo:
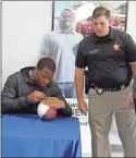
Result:
<svg viewBox="0 0 136 158">
<path fill-rule="evenodd" d="M 27 97 L 17 97 L 17 86 L 15 76 L 9 76 L 1 93 L 2 113 L 13 113 L 29 105 Z"/>
</svg>

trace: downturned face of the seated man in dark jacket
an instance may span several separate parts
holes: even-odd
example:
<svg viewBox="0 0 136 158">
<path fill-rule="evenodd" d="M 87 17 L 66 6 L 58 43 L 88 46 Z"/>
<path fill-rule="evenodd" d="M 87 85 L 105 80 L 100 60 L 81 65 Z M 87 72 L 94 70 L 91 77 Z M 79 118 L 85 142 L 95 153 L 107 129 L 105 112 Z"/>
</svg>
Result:
<svg viewBox="0 0 136 158">
<path fill-rule="evenodd" d="M 36 69 L 36 83 L 41 86 L 46 87 L 53 77 L 53 72 L 47 68 L 42 70 Z"/>
</svg>

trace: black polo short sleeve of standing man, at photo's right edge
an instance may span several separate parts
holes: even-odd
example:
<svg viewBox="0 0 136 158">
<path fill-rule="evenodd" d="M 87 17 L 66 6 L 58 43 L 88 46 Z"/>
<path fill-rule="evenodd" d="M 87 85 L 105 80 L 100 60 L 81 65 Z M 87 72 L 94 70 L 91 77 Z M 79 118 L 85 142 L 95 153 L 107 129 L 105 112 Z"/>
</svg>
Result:
<svg viewBox="0 0 136 158">
<path fill-rule="evenodd" d="M 128 62 L 136 61 L 136 44 L 133 40 L 132 36 L 126 34 L 125 36 L 125 46 L 126 46 L 126 57 Z"/>
</svg>

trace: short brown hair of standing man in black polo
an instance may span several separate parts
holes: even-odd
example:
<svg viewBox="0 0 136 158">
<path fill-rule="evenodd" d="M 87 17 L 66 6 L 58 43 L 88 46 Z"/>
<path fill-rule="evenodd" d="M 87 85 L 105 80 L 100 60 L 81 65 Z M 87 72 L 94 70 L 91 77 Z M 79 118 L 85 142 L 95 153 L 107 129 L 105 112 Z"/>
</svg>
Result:
<svg viewBox="0 0 136 158">
<path fill-rule="evenodd" d="M 110 19 L 110 10 L 103 7 L 98 7 L 92 12 L 92 19 L 104 15 L 107 19 Z"/>
</svg>

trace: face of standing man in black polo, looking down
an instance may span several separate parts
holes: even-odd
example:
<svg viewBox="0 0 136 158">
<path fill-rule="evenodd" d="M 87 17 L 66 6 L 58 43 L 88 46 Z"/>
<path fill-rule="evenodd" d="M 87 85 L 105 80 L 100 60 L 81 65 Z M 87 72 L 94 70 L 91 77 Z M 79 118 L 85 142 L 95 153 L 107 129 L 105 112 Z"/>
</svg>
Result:
<svg viewBox="0 0 136 158">
<path fill-rule="evenodd" d="M 108 35 L 109 26 L 109 20 L 104 15 L 92 19 L 92 28 L 98 37 Z"/>
</svg>

